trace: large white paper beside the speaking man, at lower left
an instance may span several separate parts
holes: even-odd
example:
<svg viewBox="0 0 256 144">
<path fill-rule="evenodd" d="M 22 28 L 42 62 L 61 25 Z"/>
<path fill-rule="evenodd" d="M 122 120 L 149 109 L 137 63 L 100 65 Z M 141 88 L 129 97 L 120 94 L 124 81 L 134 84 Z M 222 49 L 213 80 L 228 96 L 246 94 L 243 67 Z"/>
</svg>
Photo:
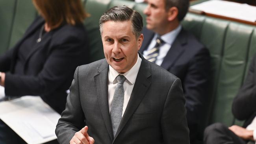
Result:
<svg viewBox="0 0 256 144">
<path fill-rule="evenodd" d="M 60 117 L 39 96 L 0 102 L 0 119 L 28 144 L 56 139 L 55 128 Z"/>
</svg>

